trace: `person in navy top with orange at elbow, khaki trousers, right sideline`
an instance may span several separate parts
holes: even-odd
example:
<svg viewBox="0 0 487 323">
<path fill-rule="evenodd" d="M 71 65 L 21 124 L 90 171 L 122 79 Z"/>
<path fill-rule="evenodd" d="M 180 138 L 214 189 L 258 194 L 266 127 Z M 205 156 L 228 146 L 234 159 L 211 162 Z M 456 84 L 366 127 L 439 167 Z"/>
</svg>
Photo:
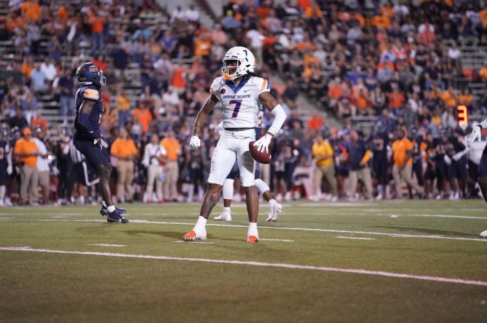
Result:
<svg viewBox="0 0 487 323">
<path fill-rule="evenodd" d="M 372 175 L 368 164 L 372 153 L 367 143 L 359 137 L 357 131 L 352 130 L 350 137 L 351 141 L 347 147 L 350 157 L 350 186 L 348 195 L 354 197 L 360 178 L 365 186 L 365 197 L 369 199 L 372 198 Z"/>
</svg>

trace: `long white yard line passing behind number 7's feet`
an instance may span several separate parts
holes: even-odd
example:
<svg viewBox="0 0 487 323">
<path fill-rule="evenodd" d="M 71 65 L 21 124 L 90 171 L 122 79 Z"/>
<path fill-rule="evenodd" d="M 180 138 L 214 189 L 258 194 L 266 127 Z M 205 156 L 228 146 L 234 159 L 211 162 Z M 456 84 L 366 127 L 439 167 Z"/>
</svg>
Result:
<svg viewBox="0 0 487 323">
<path fill-rule="evenodd" d="M 61 219 L 60 220 L 0 220 L 0 222 L 107 222 L 107 220 L 61 220 Z M 130 223 L 194 226 L 194 222 L 188 223 L 188 222 L 130 220 Z M 233 227 L 233 228 L 247 228 L 248 227 L 247 225 L 219 224 L 219 223 L 206 223 L 206 226 L 222 226 L 222 227 Z M 271 227 L 271 226 L 259 226 L 259 229 L 372 234 L 372 235 L 385 235 L 385 236 L 405 237 L 405 238 L 425 238 L 425 239 L 445 239 L 445 240 L 465 240 L 465 241 L 487 242 L 487 239 L 485 239 L 485 238 L 463 238 L 463 237 L 455 237 L 455 236 L 430 235 L 430 234 L 402 234 L 402 233 L 386 233 L 386 232 L 372 232 L 372 231 L 351 231 L 351 230 L 314 229 L 314 228 L 296 228 L 296 227 Z"/>
</svg>

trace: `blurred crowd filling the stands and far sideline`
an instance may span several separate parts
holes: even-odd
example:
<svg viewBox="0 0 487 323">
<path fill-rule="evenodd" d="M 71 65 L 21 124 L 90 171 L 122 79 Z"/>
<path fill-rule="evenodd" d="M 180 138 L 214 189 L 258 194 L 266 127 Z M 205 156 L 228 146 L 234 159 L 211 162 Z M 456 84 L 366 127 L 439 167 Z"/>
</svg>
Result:
<svg viewBox="0 0 487 323">
<path fill-rule="evenodd" d="M 187 141 L 222 56 L 236 45 L 253 51 L 288 115 L 272 162 L 262 167 L 278 199 L 476 196 L 483 146 L 465 149 L 468 129 L 458 127 L 455 109 L 487 114 L 487 94 L 475 102 L 454 78 L 487 80 L 487 66 L 464 68 L 459 49 L 487 44 L 487 9 L 480 1 L 372 3 L 232 0 L 208 30 L 193 7 L 165 13 L 152 1 L 11 0 L 9 16 L 0 18 L 0 40 L 11 39 L 16 50 L 0 62 L 0 203 L 18 193 L 22 203 L 96 196 L 83 190 L 96 180 L 70 144 L 67 123 L 82 43 L 107 76 L 102 127 L 118 200 L 201 199 L 221 114 L 205 126 L 202 149 Z M 140 19 L 148 12 L 165 15 L 167 25 L 148 26 Z M 63 56 L 72 57 L 69 64 Z M 129 64 L 140 70 L 135 100 L 124 88 Z M 59 102 L 62 126 L 43 117 L 46 94 Z M 309 118 L 300 117 L 298 95 L 316 108 Z M 343 126 L 327 127 L 324 112 Z M 376 116 L 373 129 L 357 131 L 357 115 Z M 264 114 L 262 128 L 271 117 Z"/>
</svg>

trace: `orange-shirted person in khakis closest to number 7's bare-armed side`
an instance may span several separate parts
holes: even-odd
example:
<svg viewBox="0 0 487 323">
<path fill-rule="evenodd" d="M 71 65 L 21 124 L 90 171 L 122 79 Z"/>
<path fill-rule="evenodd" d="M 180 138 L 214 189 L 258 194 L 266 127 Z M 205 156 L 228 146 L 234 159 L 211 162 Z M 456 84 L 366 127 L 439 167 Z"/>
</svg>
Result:
<svg viewBox="0 0 487 323">
<path fill-rule="evenodd" d="M 166 181 L 164 182 L 164 197 L 166 200 L 178 200 L 178 178 L 179 165 L 178 157 L 181 155 L 181 144 L 174 136 L 174 131 L 169 130 L 160 144 L 167 152 Z"/>
</svg>

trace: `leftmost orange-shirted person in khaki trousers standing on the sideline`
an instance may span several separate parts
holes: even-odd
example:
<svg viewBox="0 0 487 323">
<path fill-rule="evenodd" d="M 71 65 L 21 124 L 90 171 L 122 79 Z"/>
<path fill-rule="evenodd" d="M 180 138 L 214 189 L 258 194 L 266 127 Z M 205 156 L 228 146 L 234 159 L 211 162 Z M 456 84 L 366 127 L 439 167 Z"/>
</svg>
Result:
<svg viewBox="0 0 487 323">
<path fill-rule="evenodd" d="M 25 204 L 34 204 L 37 199 L 38 179 L 36 142 L 29 128 L 22 129 L 23 138 L 15 142 L 14 156 L 20 163 L 20 197 Z"/>
</svg>

